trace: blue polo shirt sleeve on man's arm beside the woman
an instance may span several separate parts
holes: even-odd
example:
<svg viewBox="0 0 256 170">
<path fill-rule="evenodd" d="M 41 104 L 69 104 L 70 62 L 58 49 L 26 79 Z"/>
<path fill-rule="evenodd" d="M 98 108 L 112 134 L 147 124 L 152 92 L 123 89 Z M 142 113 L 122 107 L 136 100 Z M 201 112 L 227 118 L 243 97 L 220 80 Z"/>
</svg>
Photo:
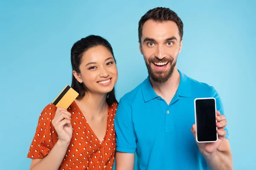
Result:
<svg viewBox="0 0 256 170">
<path fill-rule="evenodd" d="M 125 108 L 120 100 L 115 118 L 116 150 L 125 153 L 135 153 L 137 136 L 131 119 L 131 109 Z"/>
</svg>

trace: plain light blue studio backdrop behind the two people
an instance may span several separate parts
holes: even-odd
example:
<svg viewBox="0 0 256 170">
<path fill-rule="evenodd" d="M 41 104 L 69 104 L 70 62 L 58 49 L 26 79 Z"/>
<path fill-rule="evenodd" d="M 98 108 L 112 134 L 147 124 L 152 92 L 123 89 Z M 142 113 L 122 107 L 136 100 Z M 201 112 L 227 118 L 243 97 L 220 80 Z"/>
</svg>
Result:
<svg viewBox="0 0 256 170">
<path fill-rule="evenodd" d="M 113 46 L 117 98 L 147 77 L 138 22 L 151 8 L 169 7 L 183 20 L 177 67 L 219 92 L 228 120 L 235 170 L 256 165 L 256 3 L 253 0 L 0 2 L 0 169 L 28 170 L 38 116 L 71 84 L 70 49 L 89 34 Z"/>
</svg>

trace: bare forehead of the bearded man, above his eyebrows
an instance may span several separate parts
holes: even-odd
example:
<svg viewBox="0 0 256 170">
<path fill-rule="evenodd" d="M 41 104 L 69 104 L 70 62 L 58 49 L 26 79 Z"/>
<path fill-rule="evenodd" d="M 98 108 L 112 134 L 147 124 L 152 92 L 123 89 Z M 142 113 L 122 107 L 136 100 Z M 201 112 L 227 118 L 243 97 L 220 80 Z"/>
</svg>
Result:
<svg viewBox="0 0 256 170">
<path fill-rule="evenodd" d="M 156 22 L 148 20 L 144 23 L 142 29 L 142 39 L 145 37 L 153 39 L 167 39 L 170 37 L 179 38 L 179 29 L 173 21 Z"/>
</svg>

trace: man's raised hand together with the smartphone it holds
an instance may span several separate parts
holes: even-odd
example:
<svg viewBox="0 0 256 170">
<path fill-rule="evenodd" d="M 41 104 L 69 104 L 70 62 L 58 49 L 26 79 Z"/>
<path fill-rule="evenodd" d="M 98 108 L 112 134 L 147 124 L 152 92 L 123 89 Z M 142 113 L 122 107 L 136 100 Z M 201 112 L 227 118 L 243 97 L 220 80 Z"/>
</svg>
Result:
<svg viewBox="0 0 256 170">
<path fill-rule="evenodd" d="M 214 154 L 226 137 L 226 117 L 216 111 L 215 98 L 197 98 L 194 103 L 195 124 L 191 131 L 200 152 L 204 156 Z"/>
</svg>

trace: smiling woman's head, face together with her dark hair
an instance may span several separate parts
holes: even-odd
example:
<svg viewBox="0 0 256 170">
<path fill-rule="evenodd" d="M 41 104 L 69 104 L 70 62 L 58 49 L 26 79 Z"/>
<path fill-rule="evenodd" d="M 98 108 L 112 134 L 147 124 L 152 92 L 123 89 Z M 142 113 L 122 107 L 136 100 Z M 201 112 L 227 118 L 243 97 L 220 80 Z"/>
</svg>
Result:
<svg viewBox="0 0 256 170">
<path fill-rule="evenodd" d="M 84 48 L 79 48 L 82 46 Z M 78 99 L 81 99 L 88 90 L 107 91 L 108 104 L 112 104 L 115 100 L 114 85 L 117 81 L 117 68 L 110 43 L 94 35 L 79 40 L 71 49 L 71 63 L 73 68 L 71 87 L 78 91 Z M 108 88 L 99 88 L 95 84 L 108 79 L 113 79 L 111 81 L 113 85 Z"/>
</svg>

